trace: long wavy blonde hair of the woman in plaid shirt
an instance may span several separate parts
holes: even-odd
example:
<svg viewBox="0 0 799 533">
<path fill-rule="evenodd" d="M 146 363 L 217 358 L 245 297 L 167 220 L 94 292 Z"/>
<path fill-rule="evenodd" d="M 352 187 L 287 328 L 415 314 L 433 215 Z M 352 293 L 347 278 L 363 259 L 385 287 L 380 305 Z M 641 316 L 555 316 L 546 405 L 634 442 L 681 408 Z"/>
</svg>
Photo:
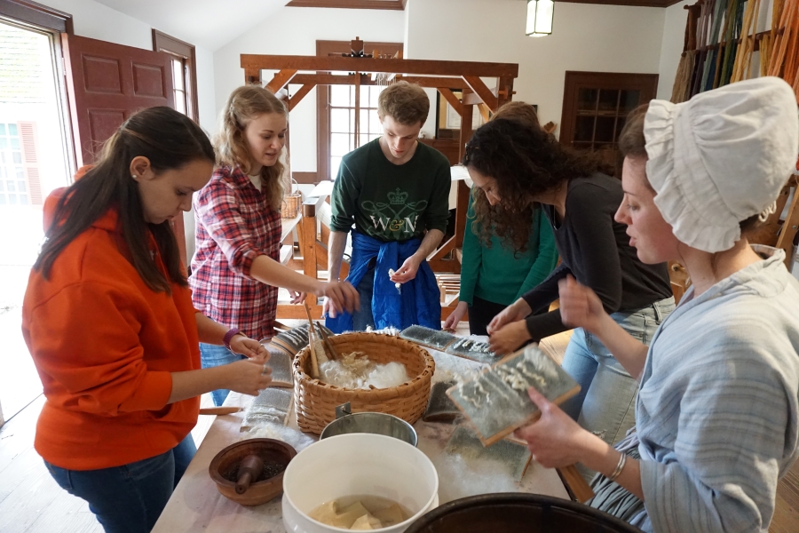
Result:
<svg viewBox="0 0 799 533">
<path fill-rule="evenodd" d="M 238 166 L 249 174 L 251 159 L 244 128 L 258 115 L 280 113 L 289 118 L 283 102 L 271 91 L 258 85 L 244 85 L 230 93 L 219 116 L 219 131 L 214 136 L 217 149 L 217 164 Z M 283 200 L 283 163 L 278 159 L 272 166 L 261 168 L 261 187 L 269 205 L 274 210 L 281 208 Z"/>
</svg>

